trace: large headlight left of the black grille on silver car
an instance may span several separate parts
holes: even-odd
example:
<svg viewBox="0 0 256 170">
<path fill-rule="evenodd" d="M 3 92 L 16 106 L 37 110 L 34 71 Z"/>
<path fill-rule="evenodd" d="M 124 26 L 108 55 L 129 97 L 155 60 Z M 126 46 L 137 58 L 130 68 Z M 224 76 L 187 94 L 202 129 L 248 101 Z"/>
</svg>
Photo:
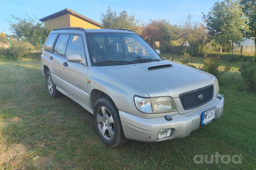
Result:
<svg viewBox="0 0 256 170">
<path fill-rule="evenodd" d="M 134 102 L 137 109 L 145 113 L 165 113 L 177 110 L 173 99 L 168 96 L 156 98 L 134 96 Z"/>
</svg>

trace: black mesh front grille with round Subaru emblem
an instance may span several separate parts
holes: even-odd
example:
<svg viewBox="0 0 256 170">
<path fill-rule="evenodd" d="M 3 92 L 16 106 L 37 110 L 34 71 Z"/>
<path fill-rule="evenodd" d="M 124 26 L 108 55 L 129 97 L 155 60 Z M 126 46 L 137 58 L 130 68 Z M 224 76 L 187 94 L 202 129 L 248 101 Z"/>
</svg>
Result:
<svg viewBox="0 0 256 170">
<path fill-rule="evenodd" d="M 201 89 L 193 90 L 190 92 L 182 93 L 179 95 L 181 104 L 184 110 L 197 108 L 208 103 L 213 98 L 213 85 L 206 86 Z M 199 95 L 203 95 L 203 99 L 199 99 Z"/>
</svg>

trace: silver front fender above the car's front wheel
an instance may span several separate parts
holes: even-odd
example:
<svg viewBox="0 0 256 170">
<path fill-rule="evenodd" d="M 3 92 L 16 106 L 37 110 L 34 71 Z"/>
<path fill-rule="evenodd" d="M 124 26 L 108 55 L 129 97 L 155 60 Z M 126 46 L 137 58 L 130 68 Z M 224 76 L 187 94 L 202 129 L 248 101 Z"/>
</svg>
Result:
<svg viewBox="0 0 256 170">
<path fill-rule="evenodd" d="M 140 116 L 134 104 L 134 95 L 149 97 L 148 93 L 137 86 L 110 74 L 98 67 L 88 67 L 88 93 L 97 89 L 106 93 L 120 111 Z"/>
</svg>

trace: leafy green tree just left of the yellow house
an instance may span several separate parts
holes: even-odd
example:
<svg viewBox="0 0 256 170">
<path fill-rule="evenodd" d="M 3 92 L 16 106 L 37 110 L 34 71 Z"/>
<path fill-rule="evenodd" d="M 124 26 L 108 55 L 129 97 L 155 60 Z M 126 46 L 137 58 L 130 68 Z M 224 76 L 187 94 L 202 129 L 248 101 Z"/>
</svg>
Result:
<svg viewBox="0 0 256 170">
<path fill-rule="evenodd" d="M 20 19 L 12 15 L 12 18 L 16 19 L 17 22 L 9 21 L 10 30 L 17 40 L 27 41 L 34 47 L 39 48 L 39 37 L 41 38 L 41 44 L 44 44 L 50 30 L 45 28 L 43 23 L 36 22 L 29 16 L 27 17 L 28 19 Z"/>
</svg>

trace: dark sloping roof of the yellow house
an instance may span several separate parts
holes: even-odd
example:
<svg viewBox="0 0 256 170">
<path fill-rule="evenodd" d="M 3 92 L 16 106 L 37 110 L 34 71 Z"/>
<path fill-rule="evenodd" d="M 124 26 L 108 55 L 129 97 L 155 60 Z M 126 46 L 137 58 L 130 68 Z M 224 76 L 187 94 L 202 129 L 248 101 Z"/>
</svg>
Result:
<svg viewBox="0 0 256 170">
<path fill-rule="evenodd" d="M 101 25 L 99 22 L 96 22 L 96 21 L 94 21 L 90 18 L 87 18 L 86 16 L 83 16 L 80 13 L 77 13 L 77 12 L 71 10 L 71 9 L 68 9 L 68 8 L 60 10 L 59 12 L 55 12 L 51 15 L 45 16 L 44 18 L 39 19 L 39 21 L 44 22 L 44 21 L 47 21 L 49 19 L 53 19 L 53 18 L 56 18 L 58 16 L 65 15 L 66 13 L 71 13 L 72 15 L 76 15 L 76 16 L 78 16 L 78 17 L 80 17 L 80 18 L 82 18 L 86 21 L 92 22 L 93 24 L 98 25 L 99 27 L 103 27 L 103 25 Z"/>
</svg>

